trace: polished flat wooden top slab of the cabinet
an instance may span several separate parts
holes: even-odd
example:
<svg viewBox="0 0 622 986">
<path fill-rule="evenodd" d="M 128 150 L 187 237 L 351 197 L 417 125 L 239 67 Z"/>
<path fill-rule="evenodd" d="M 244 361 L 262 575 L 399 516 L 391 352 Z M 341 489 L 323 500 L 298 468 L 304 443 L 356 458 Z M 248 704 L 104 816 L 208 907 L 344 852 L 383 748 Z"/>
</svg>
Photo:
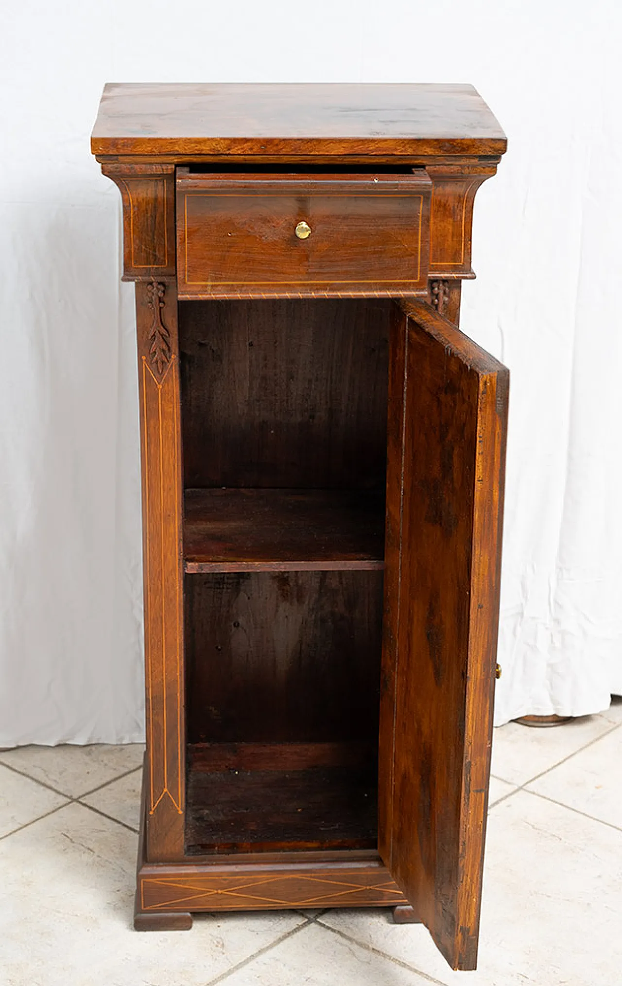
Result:
<svg viewBox="0 0 622 986">
<path fill-rule="evenodd" d="M 104 87 L 98 157 L 481 155 L 506 135 L 468 85 L 117 84 Z"/>
</svg>

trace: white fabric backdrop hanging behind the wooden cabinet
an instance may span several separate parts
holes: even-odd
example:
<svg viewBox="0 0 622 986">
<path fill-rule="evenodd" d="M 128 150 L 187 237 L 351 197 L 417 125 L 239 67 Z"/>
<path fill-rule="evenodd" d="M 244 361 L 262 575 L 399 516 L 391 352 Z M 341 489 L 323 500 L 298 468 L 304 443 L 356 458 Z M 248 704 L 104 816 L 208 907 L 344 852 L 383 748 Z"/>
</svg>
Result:
<svg viewBox="0 0 622 986">
<path fill-rule="evenodd" d="M 472 82 L 462 327 L 512 370 L 497 722 L 622 691 L 617 0 L 23 0 L 0 35 L 0 744 L 143 736 L 133 289 L 105 81 Z"/>
</svg>

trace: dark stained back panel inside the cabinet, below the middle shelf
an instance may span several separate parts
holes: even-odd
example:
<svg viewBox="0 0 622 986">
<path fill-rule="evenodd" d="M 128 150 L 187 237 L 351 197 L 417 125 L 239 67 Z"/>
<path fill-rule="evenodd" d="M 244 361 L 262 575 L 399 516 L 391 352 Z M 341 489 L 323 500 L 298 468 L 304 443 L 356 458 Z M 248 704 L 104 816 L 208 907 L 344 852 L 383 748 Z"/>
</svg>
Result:
<svg viewBox="0 0 622 986">
<path fill-rule="evenodd" d="M 187 740 L 378 742 L 382 572 L 187 575 Z"/>
</svg>

